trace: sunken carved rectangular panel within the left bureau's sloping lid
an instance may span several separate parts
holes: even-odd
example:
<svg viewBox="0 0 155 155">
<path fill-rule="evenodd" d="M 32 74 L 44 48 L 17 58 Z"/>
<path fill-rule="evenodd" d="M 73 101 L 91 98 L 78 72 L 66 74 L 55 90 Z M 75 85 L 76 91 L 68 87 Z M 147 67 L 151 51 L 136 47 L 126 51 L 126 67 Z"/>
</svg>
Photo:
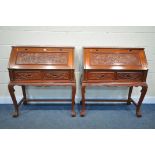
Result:
<svg viewBox="0 0 155 155">
<path fill-rule="evenodd" d="M 16 64 L 51 64 L 51 65 L 67 65 L 68 53 L 66 52 L 19 52 L 16 59 Z"/>
</svg>

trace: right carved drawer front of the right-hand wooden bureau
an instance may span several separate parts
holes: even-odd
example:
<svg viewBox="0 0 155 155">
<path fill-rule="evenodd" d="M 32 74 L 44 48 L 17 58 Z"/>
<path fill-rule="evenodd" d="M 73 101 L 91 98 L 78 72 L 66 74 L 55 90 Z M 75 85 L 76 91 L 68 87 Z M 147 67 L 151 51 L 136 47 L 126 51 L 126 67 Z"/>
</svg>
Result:
<svg viewBox="0 0 155 155">
<path fill-rule="evenodd" d="M 118 72 L 117 80 L 125 81 L 142 81 L 143 73 L 142 72 Z"/>
</svg>

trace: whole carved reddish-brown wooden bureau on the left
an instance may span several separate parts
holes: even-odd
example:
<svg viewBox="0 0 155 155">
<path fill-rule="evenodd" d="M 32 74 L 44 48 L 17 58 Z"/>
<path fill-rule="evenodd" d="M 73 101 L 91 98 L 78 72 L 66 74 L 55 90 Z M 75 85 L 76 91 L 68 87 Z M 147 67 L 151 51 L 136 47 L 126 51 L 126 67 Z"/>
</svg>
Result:
<svg viewBox="0 0 155 155">
<path fill-rule="evenodd" d="M 66 101 L 28 99 L 26 86 L 71 86 L 72 112 L 75 116 L 74 98 L 76 92 L 74 78 L 74 48 L 72 47 L 12 47 L 9 60 L 10 82 L 8 89 L 14 104 L 13 117 L 19 115 L 21 103 L 31 101 Z M 21 86 L 23 98 L 17 103 L 14 86 Z M 60 94 L 61 96 L 61 94 Z"/>
</svg>

